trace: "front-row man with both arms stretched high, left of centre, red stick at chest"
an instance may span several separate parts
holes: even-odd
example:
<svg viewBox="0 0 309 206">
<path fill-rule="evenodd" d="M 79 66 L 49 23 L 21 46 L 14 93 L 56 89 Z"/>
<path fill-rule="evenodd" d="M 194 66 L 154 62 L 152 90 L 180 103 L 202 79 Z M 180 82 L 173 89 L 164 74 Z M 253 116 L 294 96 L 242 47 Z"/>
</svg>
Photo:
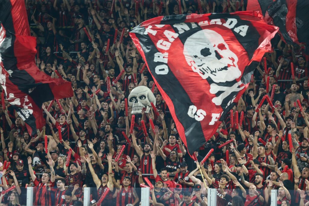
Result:
<svg viewBox="0 0 309 206">
<path fill-rule="evenodd" d="M 112 205 L 114 204 L 114 202 L 112 201 L 113 200 L 113 190 L 114 190 L 114 185 L 112 183 L 112 178 L 109 177 L 108 174 L 112 174 L 112 154 L 109 153 L 107 155 L 107 160 L 108 160 L 108 174 L 107 173 L 104 173 L 102 175 L 102 178 L 99 179 L 98 178 L 98 175 L 95 174 L 95 170 L 93 169 L 92 167 L 92 164 L 91 164 L 91 160 L 89 157 L 85 157 L 85 160 L 87 161 L 88 163 L 88 167 L 89 167 L 89 170 L 91 172 L 91 176 L 93 178 L 93 181 L 95 182 L 96 184 L 96 187 L 97 187 L 97 191 L 98 191 L 98 199 L 102 196 L 103 192 L 106 190 L 106 188 L 109 188 L 109 192 L 107 194 L 107 196 L 105 197 L 105 199 L 103 200 L 102 202 L 102 205 Z"/>
</svg>

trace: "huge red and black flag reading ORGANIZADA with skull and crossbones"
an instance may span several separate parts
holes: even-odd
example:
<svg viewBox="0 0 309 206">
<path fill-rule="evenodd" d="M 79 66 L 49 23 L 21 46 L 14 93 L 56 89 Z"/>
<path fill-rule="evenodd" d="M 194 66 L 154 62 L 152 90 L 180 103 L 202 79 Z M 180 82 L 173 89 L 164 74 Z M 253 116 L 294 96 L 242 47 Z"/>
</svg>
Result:
<svg viewBox="0 0 309 206">
<path fill-rule="evenodd" d="M 239 100 L 277 30 L 256 11 L 161 16 L 132 29 L 190 154 Z"/>
</svg>

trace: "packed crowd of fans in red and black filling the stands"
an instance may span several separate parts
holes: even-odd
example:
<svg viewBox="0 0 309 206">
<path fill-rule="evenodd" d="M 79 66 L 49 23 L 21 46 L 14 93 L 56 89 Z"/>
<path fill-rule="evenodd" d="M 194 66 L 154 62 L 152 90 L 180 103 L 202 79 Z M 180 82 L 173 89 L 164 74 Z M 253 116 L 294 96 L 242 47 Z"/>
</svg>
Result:
<svg viewBox="0 0 309 206">
<path fill-rule="evenodd" d="M 50 102 L 42 105 L 46 125 L 34 136 L 7 101 L 5 111 L 0 107 L 0 190 L 16 187 L 1 194 L 2 205 L 26 205 L 26 187 L 35 187 L 34 205 L 83 205 L 84 187 L 91 187 L 91 205 L 107 188 L 101 205 L 138 205 L 140 184 L 147 185 L 145 177 L 154 185 L 150 188 L 154 206 L 205 206 L 208 187 L 218 189 L 219 206 L 270 205 L 272 189 L 278 190 L 277 205 L 308 202 L 309 56 L 305 45 L 287 45 L 279 35 L 272 40 L 274 52 L 265 54 L 268 72 L 262 59 L 232 113 L 194 152 L 197 161 L 179 138 L 147 67 L 140 73 L 144 61 L 129 36 L 131 28 L 160 15 L 244 11 L 246 0 L 25 2 L 31 34 L 37 37 L 37 67 L 53 78 L 70 81 L 74 96 L 59 100 L 61 106 L 57 101 L 50 108 Z M 153 89 L 157 111 L 151 108 L 148 114 L 135 115 L 130 133 L 132 115 L 130 108 L 125 114 L 125 98 L 138 86 Z M 273 89 L 273 105 L 261 102 Z M 256 108 L 260 109 L 256 112 Z M 242 122 L 238 124 L 237 119 Z M 227 140 L 233 141 L 218 147 Z M 212 148 L 214 152 L 202 163 Z"/>
</svg>

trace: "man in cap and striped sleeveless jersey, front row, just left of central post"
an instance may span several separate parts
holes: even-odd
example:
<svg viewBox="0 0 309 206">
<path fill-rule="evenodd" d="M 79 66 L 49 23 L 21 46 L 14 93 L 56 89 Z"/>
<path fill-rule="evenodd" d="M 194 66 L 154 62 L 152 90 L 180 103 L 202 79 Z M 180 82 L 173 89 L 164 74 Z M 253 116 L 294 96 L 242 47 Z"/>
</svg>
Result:
<svg viewBox="0 0 309 206">
<path fill-rule="evenodd" d="M 123 184 L 119 185 L 114 178 L 114 174 L 111 173 L 112 182 L 114 187 L 118 190 L 117 192 L 117 202 L 116 206 L 122 206 L 127 204 L 137 204 L 139 201 L 138 194 L 135 191 L 134 187 L 131 187 L 130 177 L 125 177 L 123 179 Z"/>
</svg>

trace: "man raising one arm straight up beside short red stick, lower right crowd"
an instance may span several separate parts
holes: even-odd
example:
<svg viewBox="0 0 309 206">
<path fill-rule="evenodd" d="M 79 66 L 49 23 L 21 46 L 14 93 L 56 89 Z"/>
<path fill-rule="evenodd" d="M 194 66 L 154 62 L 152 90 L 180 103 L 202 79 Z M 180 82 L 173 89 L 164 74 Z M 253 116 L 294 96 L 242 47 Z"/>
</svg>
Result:
<svg viewBox="0 0 309 206">
<path fill-rule="evenodd" d="M 263 171 L 263 174 L 265 177 L 267 177 L 270 174 L 271 170 L 275 169 L 275 163 L 272 157 L 266 156 L 266 149 L 264 146 L 257 147 L 257 137 L 259 135 L 259 132 L 256 131 L 254 133 L 254 142 L 253 142 L 253 159 L 257 159 L 260 162 L 260 165 L 262 168 L 260 170 Z"/>
</svg>

